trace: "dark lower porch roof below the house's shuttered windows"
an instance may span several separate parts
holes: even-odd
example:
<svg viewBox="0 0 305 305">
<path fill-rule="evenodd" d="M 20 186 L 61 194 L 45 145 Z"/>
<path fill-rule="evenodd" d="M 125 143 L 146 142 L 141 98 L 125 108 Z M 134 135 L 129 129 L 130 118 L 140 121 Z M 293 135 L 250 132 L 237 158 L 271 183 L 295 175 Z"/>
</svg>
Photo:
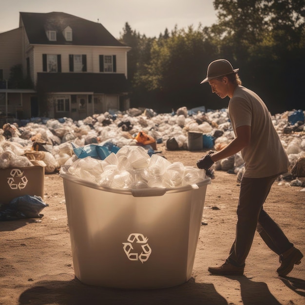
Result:
<svg viewBox="0 0 305 305">
<path fill-rule="evenodd" d="M 128 92 L 128 83 L 116 73 L 38 73 L 37 90 L 121 94 Z"/>
</svg>

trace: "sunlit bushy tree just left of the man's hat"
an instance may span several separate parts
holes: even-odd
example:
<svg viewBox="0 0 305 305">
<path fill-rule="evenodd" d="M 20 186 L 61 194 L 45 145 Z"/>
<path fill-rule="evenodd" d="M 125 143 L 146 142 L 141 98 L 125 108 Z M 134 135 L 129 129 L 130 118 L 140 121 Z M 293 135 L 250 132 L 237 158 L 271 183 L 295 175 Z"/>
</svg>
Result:
<svg viewBox="0 0 305 305">
<path fill-rule="evenodd" d="M 169 38 L 153 41 L 151 60 L 135 75 L 134 84 L 154 97 L 158 109 L 201 105 L 203 67 L 214 51 L 201 25 L 197 30 L 175 27 Z"/>
</svg>

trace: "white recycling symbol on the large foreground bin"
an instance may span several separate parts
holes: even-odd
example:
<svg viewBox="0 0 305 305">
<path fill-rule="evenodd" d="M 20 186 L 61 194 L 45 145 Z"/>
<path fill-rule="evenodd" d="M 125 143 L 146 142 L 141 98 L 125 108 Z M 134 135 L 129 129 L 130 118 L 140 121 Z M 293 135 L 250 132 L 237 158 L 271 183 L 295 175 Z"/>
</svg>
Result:
<svg viewBox="0 0 305 305">
<path fill-rule="evenodd" d="M 149 259 L 152 249 L 147 241 L 148 238 L 140 233 L 131 233 L 128 236 L 127 243 L 122 244 L 124 245 L 123 249 L 129 260 L 140 261 L 143 264 Z"/>
</svg>

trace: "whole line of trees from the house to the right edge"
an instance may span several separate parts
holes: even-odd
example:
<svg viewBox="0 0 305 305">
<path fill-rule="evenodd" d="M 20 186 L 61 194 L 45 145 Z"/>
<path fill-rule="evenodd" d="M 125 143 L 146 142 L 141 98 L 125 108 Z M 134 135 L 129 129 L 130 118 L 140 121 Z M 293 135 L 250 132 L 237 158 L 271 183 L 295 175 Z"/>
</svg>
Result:
<svg viewBox="0 0 305 305">
<path fill-rule="evenodd" d="M 132 107 L 170 112 L 187 106 L 221 109 L 228 99 L 200 84 L 212 60 L 240 68 L 243 85 L 272 114 L 305 108 L 305 0 L 214 0 L 217 23 L 165 29 L 149 38 L 125 23 Z"/>
</svg>

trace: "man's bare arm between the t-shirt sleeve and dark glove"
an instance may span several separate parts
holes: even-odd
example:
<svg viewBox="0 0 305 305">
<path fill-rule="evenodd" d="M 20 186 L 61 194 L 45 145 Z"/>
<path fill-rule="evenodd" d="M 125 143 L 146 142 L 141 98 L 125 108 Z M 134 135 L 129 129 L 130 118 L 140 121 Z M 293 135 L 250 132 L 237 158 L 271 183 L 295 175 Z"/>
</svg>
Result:
<svg viewBox="0 0 305 305">
<path fill-rule="evenodd" d="M 240 126 L 236 128 L 236 137 L 221 151 L 211 154 L 211 160 L 227 158 L 249 145 L 251 139 L 251 126 Z"/>
</svg>

